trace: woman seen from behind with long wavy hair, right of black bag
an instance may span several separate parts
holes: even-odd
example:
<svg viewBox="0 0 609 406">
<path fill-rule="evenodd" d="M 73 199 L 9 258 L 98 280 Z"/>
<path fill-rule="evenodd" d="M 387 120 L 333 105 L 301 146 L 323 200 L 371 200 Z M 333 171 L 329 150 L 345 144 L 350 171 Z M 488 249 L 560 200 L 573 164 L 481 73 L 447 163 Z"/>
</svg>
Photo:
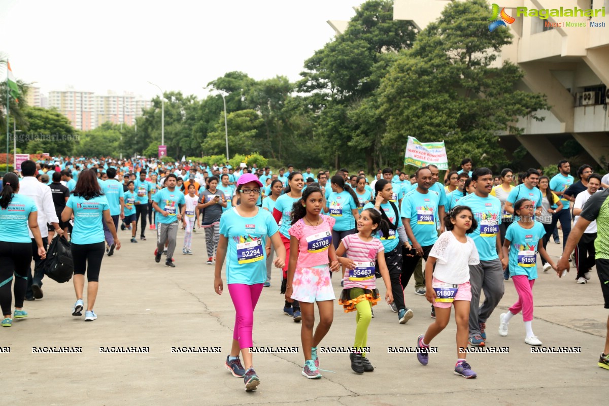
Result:
<svg viewBox="0 0 609 406">
<path fill-rule="evenodd" d="M 72 195 L 66 202 L 62 212 L 62 221 L 68 222 L 74 214 L 74 228 L 72 229 L 72 261 L 74 261 L 74 292 L 76 303 L 72 308 L 72 316 L 82 316 L 84 303 L 82 300 L 85 287 L 85 271 L 87 278 L 87 307 L 85 321 L 97 319 L 93 311 L 97 290 L 99 289 L 99 270 L 104 258 L 104 227 L 106 223 L 116 250 L 121 249 L 121 242 L 116 235 L 116 228 L 110 216 L 108 200 L 97 182 L 96 174 L 92 170 L 83 170 L 78 178 Z"/>
</svg>

